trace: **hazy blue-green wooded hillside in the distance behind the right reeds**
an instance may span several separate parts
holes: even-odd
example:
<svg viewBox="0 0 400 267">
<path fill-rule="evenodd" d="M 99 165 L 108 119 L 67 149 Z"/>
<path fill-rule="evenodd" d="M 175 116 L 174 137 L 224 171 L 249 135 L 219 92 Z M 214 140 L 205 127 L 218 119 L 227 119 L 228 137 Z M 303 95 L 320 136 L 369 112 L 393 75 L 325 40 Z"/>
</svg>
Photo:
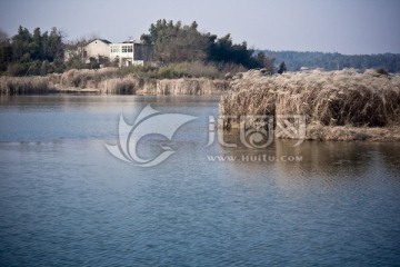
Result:
<svg viewBox="0 0 400 267">
<path fill-rule="evenodd" d="M 346 56 L 341 53 L 271 50 L 263 50 L 263 52 L 268 57 L 274 58 L 277 66 L 284 61 L 290 71 L 300 70 L 301 67 L 308 67 L 323 68 L 326 70 L 384 68 L 389 72 L 400 72 L 400 53 Z"/>
</svg>

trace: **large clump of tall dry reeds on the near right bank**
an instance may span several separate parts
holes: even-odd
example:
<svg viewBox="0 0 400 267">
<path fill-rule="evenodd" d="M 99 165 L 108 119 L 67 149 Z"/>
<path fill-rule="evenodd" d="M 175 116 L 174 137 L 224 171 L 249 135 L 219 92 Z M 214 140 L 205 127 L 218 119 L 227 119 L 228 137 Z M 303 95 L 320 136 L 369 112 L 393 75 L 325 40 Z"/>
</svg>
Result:
<svg viewBox="0 0 400 267">
<path fill-rule="evenodd" d="M 400 140 L 400 77 L 353 69 L 282 76 L 251 70 L 231 82 L 231 91 L 221 98 L 220 115 L 306 116 L 307 139 Z M 259 122 L 249 120 L 247 127 Z M 224 120 L 226 128 L 238 123 L 234 118 Z M 278 127 L 274 134 L 288 138 Z"/>
</svg>

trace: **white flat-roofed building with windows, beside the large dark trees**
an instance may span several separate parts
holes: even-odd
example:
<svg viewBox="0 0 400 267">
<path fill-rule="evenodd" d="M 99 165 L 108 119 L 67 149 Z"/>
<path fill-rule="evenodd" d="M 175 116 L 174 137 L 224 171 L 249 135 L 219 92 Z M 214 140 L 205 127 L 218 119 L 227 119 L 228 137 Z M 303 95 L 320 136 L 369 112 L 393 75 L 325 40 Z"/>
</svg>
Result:
<svg viewBox="0 0 400 267">
<path fill-rule="evenodd" d="M 141 42 L 127 41 L 110 44 L 110 61 L 119 66 L 143 66 L 152 57 L 151 46 Z"/>
</svg>

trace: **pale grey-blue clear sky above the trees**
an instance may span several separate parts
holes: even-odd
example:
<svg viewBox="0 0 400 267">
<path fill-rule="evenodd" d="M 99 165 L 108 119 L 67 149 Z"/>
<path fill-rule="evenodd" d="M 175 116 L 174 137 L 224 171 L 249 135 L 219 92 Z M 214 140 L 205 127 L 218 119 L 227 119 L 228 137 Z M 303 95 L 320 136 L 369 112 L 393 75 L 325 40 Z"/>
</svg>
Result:
<svg viewBox="0 0 400 267">
<path fill-rule="evenodd" d="M 0 28 L 57 27 L 66 39 L 139 39 L 158 19 L 254 49 L 400 53 L 400 0 L 0 0 Z"/>
</svg>

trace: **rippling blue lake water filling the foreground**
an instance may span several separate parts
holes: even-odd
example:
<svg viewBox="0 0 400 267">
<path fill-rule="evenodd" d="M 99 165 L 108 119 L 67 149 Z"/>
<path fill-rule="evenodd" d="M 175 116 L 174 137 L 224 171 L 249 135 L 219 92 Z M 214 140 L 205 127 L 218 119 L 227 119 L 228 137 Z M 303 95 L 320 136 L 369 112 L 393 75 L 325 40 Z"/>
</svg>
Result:
<svg viewBox="0 0 400 267">
<path fill-rule="evenodd" d="M 207 146 L 218 101 L 1 97 L 0 266 L 400 264 L 399 144 Z M 144 138 L 142 155 L 174 154 L 143 168 L 106 144 L 148 103 L 197 119 Z"/>
</svg>

